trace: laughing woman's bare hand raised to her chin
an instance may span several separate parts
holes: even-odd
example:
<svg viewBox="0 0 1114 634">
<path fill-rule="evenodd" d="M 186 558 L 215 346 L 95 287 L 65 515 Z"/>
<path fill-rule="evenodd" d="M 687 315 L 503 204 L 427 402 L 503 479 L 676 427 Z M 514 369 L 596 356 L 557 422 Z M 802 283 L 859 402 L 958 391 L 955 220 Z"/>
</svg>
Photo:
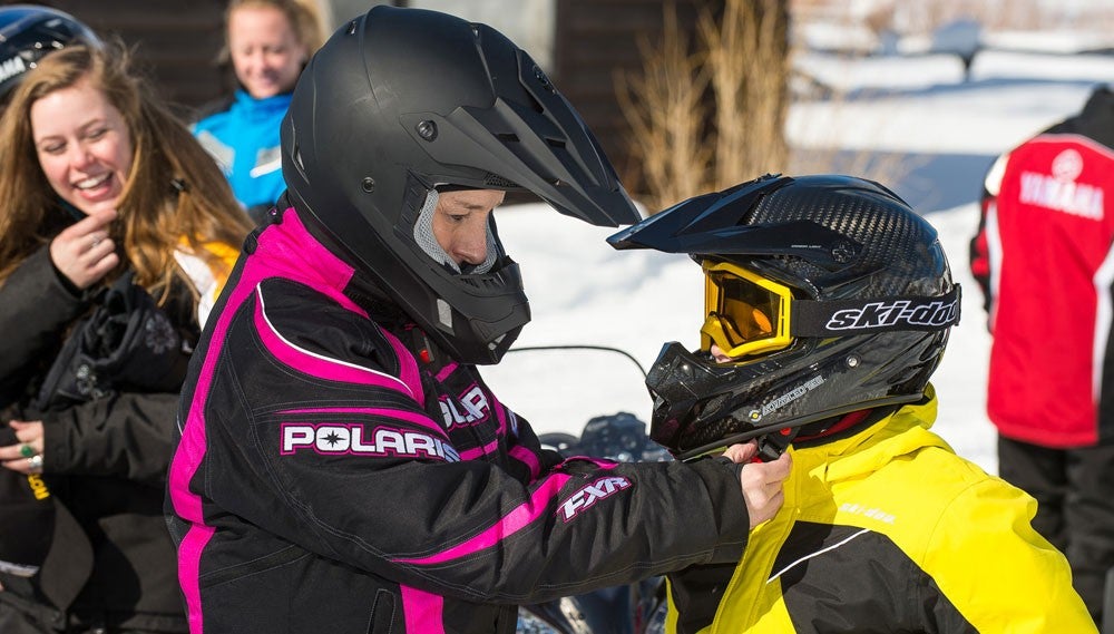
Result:
<svg viewBox="0 0 1114 634">
<path fill-rule="evenodd" d="M 108 225 L 116 211 L 96 212 L 62 230 L 50 242 L 55 267 L 79 290 L 99 282 L 120 263 L 116 244 L 108 236 Z"/>
</svg>

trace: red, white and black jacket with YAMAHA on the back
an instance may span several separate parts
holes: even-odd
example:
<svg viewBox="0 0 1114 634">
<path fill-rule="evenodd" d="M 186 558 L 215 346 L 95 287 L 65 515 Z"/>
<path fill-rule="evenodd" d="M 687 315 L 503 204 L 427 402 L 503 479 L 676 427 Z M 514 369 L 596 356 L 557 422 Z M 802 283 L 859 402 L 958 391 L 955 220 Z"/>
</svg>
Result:
<svg viewBox="0 0 1114 634">
<path fill-rule="evenodd" d="M 987 412 L 1055 448 L 1114 439 L 1114 92 L 991 167 L 970 267 L 994 335 Z"/>
</svg>

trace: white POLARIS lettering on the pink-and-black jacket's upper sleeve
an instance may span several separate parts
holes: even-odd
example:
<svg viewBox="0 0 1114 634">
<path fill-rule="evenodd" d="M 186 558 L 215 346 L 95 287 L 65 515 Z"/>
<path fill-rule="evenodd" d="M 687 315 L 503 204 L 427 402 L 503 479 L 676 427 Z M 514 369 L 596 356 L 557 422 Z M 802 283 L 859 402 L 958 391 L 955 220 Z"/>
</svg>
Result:
<svg viewBox="0 0 1114 634">
<path fill-rule="evenodd" d="M 390 427 L 377 427 L 370 438 L 364 438 L 364 427 L 358 422 L 343 425 L 284 422 L 280 453 L 290 456 L 302 450 L 312 450 L 321 455 L 356 453 L 460 461 L 460 455 L 452 446 L 428 433 Z"/>
</svg>

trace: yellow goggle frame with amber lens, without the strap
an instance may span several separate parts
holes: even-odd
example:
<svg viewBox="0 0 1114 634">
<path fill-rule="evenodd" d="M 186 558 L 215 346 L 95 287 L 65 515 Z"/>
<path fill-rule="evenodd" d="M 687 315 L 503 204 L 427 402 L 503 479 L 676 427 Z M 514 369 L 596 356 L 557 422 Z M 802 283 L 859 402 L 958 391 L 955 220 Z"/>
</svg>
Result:
<svg viewBox="0 0 1114 634">
<path fill-rule="evenodd" d="M 790 344 L 789 286 L 729 262 L 704 261 L 701 349 L 712 344 L 732 358 L 781 350 Z"/>
</svg>

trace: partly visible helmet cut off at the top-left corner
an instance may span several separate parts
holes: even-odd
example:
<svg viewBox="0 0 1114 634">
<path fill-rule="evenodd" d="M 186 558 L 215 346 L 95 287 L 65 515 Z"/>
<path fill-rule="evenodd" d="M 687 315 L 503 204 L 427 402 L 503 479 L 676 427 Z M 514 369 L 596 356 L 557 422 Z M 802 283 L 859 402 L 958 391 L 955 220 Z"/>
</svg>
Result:
<svg viewBox="0 0 1114 634">
<path fill-rule="evenodd" d="M 0 103 L 42 56 L 74 40 L 100 45 L 89 27 L 69 13 L 37 4 L 0 7 Z"/>
</svg>

